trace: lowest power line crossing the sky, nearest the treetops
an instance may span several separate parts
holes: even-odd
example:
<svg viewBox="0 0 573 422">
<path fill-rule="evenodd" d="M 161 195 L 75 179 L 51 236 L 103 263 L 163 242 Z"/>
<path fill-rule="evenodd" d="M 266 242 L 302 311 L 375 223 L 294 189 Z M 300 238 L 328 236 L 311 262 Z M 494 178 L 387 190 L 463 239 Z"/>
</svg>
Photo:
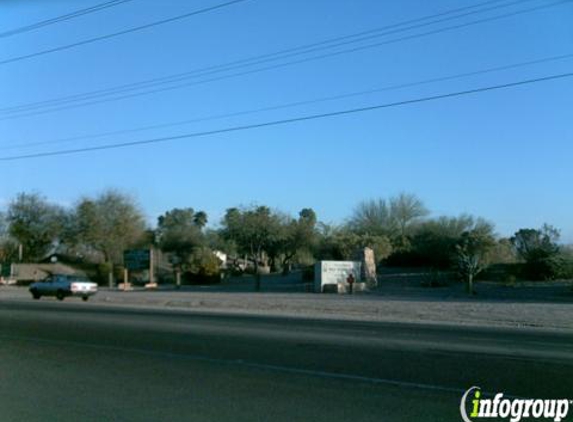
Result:
<svg viewBox="0 0 573 422">
<path fill-rule="evenodd" d="M 472 95 L 472 94 L 478 94 L 481 92 L 512 88 L 512 87 L 528 85 L 528 84 L 533 84 L 533 83 L 539 83 L 539 82 L 547 82 L 547 81 L 556 80 L 556 79 L 569 78 L 572 76 L 573 76 L 573 72 L 561 73 L 561 74 L 557 74 L 557 75 L 544 76 L 541 78 L 526 79 L 526 80 L 521 80 L 521 81 L 517 81 L 517 82 L 509 82 L 509 83 L 505 83 L 505 84 L 501 84 L 501 85 L 490 85 L 490 86 L 486 86 L 486 87 L 474 88 L 474 89 L 469 89 L 469 90 L 465 90 L 465 91 L 450 92 L 450 93 L 446 93 L 446 94 L 432 95 L 429 97 L 421 97 L 421 98 L 415 98 L 415 99 L 411 99 L 411 100 L 397 101 L 397 102 L 393 102 L 393 103 L 378 104 L 378 105 L 373 105 L 373 106 L 368 106 L 368 107 L 359 107 L 359 108 L 352 108 L 352 109 L 346 109 L 346 110 L 339 110 L 339 111 L 333 111 L 333 112 L 329 112 L 329 113 L 311 114 L 311 115 L 307 115 L 307 116 L 293 117 L 293 118 L 282 119 L 282 120 L 273 120 L 273 121 L 269 121 L 269 122 L 256 123 L 256 124 L 250 124 L 250 125 L 231 126 L 231 127 L 227 127 L 227 128 L 215 129 L 215 130 L 209 130 L 209 131 L 203 131 L 203 132 L 192 132 L 192 133 L 186 133 L 186 134 L 182 134 L 182 135 L 165 136 L 165 137 L 160 137 L 160 138 L 151 138 L 151 139 L 144 139 L 144 140 L 131 141 L 131 142 L 121 142 L 121 143 L 100 145 L 100 146 L 94 146 L 94 147 L 75 148 L 75 149 L 50 151 L 50 152 L 42 152 L 42 153 L 35 153 L 35 154 L 6 156 L 6 157 L 0 157 L 0 161 L 16 161 L 16 160 L 24 160 L 24 159 L 30 159 L 30 158 L 52 157 L 52 156 L 57 156 L 57 155 L 70 155 L 70 154 L 78 154 L 78 153 L 82 153 L 82 152 L 92 152 L 92 151 L 102 151 L 102 150 L 108 150 L 108 149 L 127 148 L 127 147 L 138 146 L 138 145 L 149 145 L 149 144 L 164 143 L 164 142 L 174 141 L 174 140 L 178 140 L 178 139 L 197 138 L 197 137 L 211 136 L 211 135 L 217 135 L 217 134 L 222 134 L 222 133 L 259 129 L 259 128 L 270 127 L 270 126 L 286 125 L 286 124 L 304 122 L 304 121 L 309 121 L 309 120 L 318 120 L 318 119 L 337 117 L 337 116 L 343 116 L 343 115 L 348 115 L 348 114 L 364 113 L 367 111 L 380 110 L 380 109 L 384 109 L 384 108 L 399 107 L 399 106 L 404 106 L 404 105 L 409 105 L 409 104 L 436 101 L 436 100 L 441 100 L 441 99 L 446 99 L 446 98 L 461 97 L 464 95 Z"/>
</svg>

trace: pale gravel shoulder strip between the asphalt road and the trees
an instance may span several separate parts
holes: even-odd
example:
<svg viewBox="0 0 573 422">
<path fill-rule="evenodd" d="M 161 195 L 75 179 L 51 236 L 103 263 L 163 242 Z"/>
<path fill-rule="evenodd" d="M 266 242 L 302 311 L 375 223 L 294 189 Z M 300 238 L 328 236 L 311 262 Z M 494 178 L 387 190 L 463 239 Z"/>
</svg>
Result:
<svg viewBox="0 0 573 422">
<path fill-rule="evenodd" d="M 135 290 L 122 292 L 101 289 L 86 306 L 129 306 L 173 309 L 189 312 L 215 312 L 355 321 L 455 324 L 487 327 L 519 327 L 573 330 L 573 292 L 539 300 L 531 297 L 492 299 L 462 297 L 449 290 L 424 289 L 420 292 L 374 291 L 360 295 L 224 291 L 219 288 Z M 422 291 L 424 291 L 422 290 Z M 404 296 L 406 294 L 406 296 Z M 0 287 L 2 301 L 31 301 L 27 289 Z M 43 298 L 42 301 L 54 301 Z M 68 298 L 65 303 L 80 303 Z"/>
</svg>

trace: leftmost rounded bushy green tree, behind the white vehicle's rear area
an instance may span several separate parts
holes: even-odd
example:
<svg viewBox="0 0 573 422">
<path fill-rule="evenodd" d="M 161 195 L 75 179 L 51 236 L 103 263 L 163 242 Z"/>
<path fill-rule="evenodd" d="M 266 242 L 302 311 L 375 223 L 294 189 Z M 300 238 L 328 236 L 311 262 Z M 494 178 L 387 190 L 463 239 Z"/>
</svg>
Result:
<svg viewBox="0 0 573 422">
<path fill-rule="evenodd" d="M 6 214 L 8 234 L 23 249 L 24 260 L 38 260 L 60 240 L 65 211 L 37 193 L 20 193 Z"/>
</svg>

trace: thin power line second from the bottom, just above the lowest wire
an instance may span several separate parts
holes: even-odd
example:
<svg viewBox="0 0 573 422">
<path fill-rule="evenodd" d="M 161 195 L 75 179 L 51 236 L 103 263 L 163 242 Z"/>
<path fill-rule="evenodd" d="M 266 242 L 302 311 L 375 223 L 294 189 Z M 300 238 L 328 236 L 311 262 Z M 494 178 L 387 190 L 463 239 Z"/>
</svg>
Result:
<svg viewBox="0 0 573 422">
<path fill-rule="evenodd" d="M 403 89 L 403 88 L 411 88 L 411 87 L 415 87 L 415 86 L 427 85 L 427 84 L 432 84 L 432 83 L 437 83 L 437 82 L 445 82 L 445 81 L 450 81 L 450 80 L 455 80 L 455 79 L 484 75 L 487 73 L 500 72 L 500 71 L 510 70 L 510 69 L 517 69 L 517 68 L 521 68 L 521 67 L 525 67 L 525 66 L 532 66 L 532 65 L 543 64 L 543 63 L 548 63 L 548 62 L 553 62 L 553 61 L 558 61 L 558 60 L 566 60 L 566 59 L 571 59 L 571 58 L 573 58 L 573 53 L 562 54 L 559 56 L 552 56 L 552 57 L 544 57 L 541 59 L 528 60 L 528 61 L 524 61 L 524 62 L 512 63 L 512 64 L 508 64 L 508 65 L 503 65 L 503 66 L 490 67 L 490 68 L 475 70 L 475 71 L 471 71 L 471 72 L 458 73 L 458 74 L 454 74 L 454 75 L 435 77 L 435 78 L 425 79 L 425 80 L 421 80 L 421 81 L 406 82 L 406 83 L 401 83 L 401 84 L 389 85 L 389 86 L 373 88 L 373 89 L 368 89 L 368 90 L 362 90 L 362 91 L 356 91 L 356 92 L 345 93 L 345 94 L 331 95 L 331 96 L 327 96 L 327 97 L 315 98 L 315 99 L 310 99 L 310 100 L 302 100 L 302 101 L 295 101 L 295 102 L 290 102 L 290 103 L 286 103 L 286 104 L 279 104 L 279 105 L 274 105 L 274 106 L 259 107 L 259 108 L 251 109 L 251 110 L 243 110 L 243 111 L 236 111 L 236 112 L 232 112 L 232 113 L 223 113 L 223 114 L 216 114 L 216 115 L 205 116 L 205 117 L 197 117 L 194 119 L 186 119 L 186 120 L 181 120 L 181 121 L 176 121 L 176 122 L 171 122 L 171 123 L 147 125 L 147 126 L 141 126 L 141 127 L 137 127 L 137 128 L 102 132 L 102 133 L 92 134 L 92 135 L 74 136 L 74 137 L 55 139 L 55 140 L 50 140 L 50 141 L 29 142 L 29 143 L 24 143 L 24 144 L 22 144 L 22 143 L 9 144 L 9 145 L 4 145 L 3 147 L 0 147 L 0 150 L 6 151 L 6 150 L 10 150 L 10 149 L 20 149 L 20 148 L 44 146 L 44 145 L 54 145 L 54 144 L 61 144 L 61 143 L 66 143 L 66 142 L 78 141 L 78 140 L 102 138 L 102 137 L 111 136 L 111 135 L 123 135 L 123 134 L 127 134 L 127 133 L 142 132 L 142 131 L 153 130 L 153 129 L 162 129 L 162 128 L 168 128 L 168 127 L 182 126 L 182 125 L 187 125 L 190 123 L 198 123 L 198 122 L 204 122 L 204 121 L 210 121 L 210 120 L 219 120 L 219 119 L 224 119 L 224 118 L 229 118 L 229 117 L 245 116 L 245 115 L 249 115 L 249 114 L 256 114 L 256 113 L 261 113 L 261 112 L 266 112 L 266 111 L 275 111 L 275 110 L 298 107 L 298 106 L 303 106 L 303 105 L 317 104 L 317 103 L 326 102 L 326 101 L 334 101 L 334 100 L 341 100 L 341 99 L 346 99 L 346 98 L 364 96 L 364 95 L 374 94 L 374 93 L 378 93 L 378 92 L 391 91 L 391 90 L 397 90 L 397 89 Z"/>
</svg>

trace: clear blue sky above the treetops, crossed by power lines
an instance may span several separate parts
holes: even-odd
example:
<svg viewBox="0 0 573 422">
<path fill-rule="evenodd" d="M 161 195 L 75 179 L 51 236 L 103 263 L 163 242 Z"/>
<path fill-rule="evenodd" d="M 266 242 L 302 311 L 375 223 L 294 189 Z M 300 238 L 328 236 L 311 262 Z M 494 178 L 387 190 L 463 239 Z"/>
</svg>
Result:
<svg viewBox="0 0 573 422">
<path fill-rule="evenodd" d="M 2 1 L 0 31 L 101 2 Z M 220 2 L 130 1 L 0 38 L 0 61 Z M 0 65 L 0 108 L 223 64 L 477 3 L 250 0 L 145 31 Z M 551 2 L 522 3 L 375 41 Z M 571 72 L 573 59 L 566 59 L 300 107 L 14 148 L 573 53 L 572 22 L 573 4 L 568 2 L 455 31 L 154 95 L 0 120 L 0 157 L 218 129 Z M 81 195 L 114 187 L 133 194 L 150 221 L 173 207 L 191 206 L 207 211 L 216 222 L 227 207 L 260 203 L 293 214 L 312 207 L 323 221 L 342 222 L 362 199 L 407 191 L 422 198 L 436 216 L 482 216 L 495 222 L 501 235 L 548 222 L 562 230 L 565 241 L 572 242 L 572 157 L 573 79 L 569 78 L 288 126 L 0 162 L 0 201 L 4 207 L 18 192 L 40 191 L 54 201 L 73 204 Z"/>
</svg>

